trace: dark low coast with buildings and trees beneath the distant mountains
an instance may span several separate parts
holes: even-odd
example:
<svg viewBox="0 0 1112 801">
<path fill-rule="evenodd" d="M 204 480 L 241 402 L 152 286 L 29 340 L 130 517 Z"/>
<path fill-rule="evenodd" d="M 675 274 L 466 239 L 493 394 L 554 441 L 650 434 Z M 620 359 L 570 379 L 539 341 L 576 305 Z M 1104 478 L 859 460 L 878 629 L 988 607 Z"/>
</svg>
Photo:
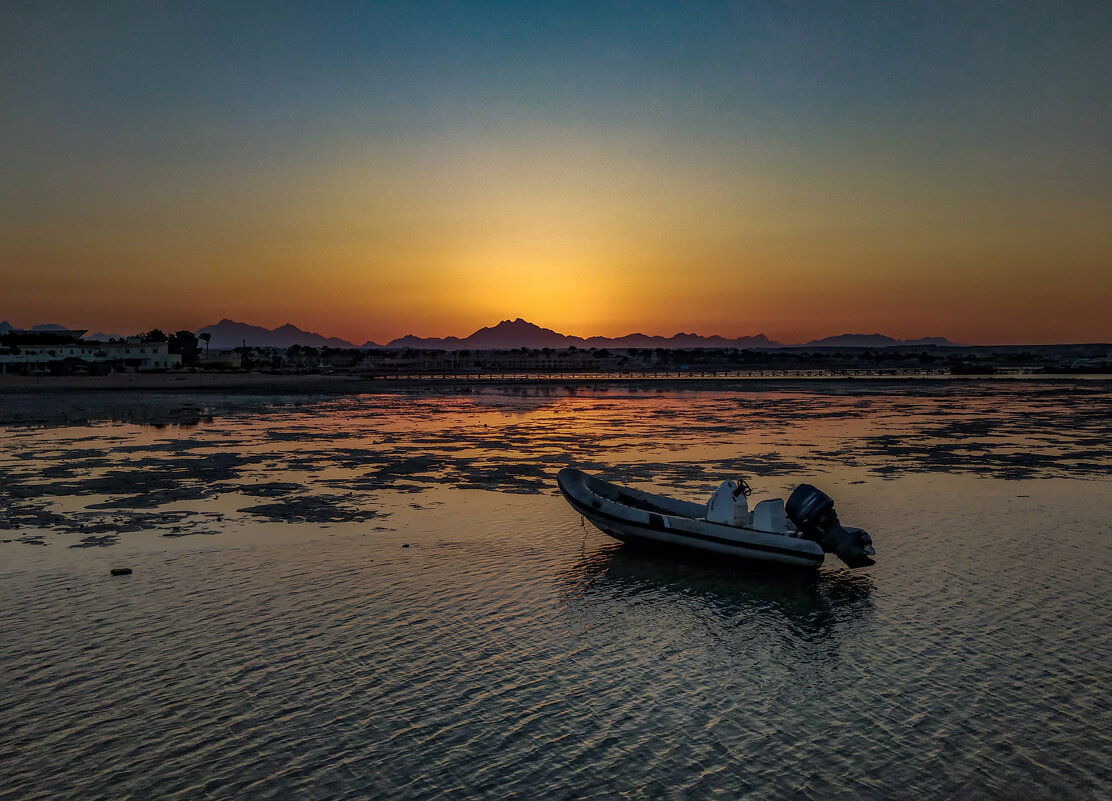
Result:
<svg viewBox="0 0 1112 801">
<path fill-rule="evenodd" d="M 520 327 L 516 323 L 510 325 Z M 77 329 L 8 329 L 0 333 L 0 375 L 49 377 L 38 385 L 42 387 L 62 386 L 57 383 L 59 378 L 73 376 L 85 382 L 85 388 L 92 388 L 137 384 L 157 387 L 163 383 L 240 387 L 267 380 L 258 376 L 272 376 L 271 384 L 284 382 L 301 386 L 310 376 L 332 377 L 332 383 L 377 379 L 470 384 L 507 379 L 550 383 L 1112 373 L 1112 345 L 776 348 L 582 348 L 569 345 L 564 348 L 474 349 L 242 345 L 211 350 L 208 334 L 203 332 L 199 335 L 188 330 L 166 334 L 155 329 L 142 336 L 108 343 L 86 339 L 81 336 L 83 333 Z M 208 375 L 188 377 L 196 373 Z M 140 375 L 169 377 L 163 380 L 141 378 Z"/>
</svg>

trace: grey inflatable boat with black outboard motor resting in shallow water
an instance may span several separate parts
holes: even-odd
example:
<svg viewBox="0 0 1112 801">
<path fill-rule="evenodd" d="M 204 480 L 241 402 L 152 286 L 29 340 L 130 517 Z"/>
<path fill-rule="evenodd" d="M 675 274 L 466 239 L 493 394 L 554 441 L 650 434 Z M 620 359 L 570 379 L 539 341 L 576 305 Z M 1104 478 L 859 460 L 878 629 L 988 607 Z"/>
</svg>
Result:
<svg viewBox="0 0 1112 801">
<path fill-rule="evenodd" d="M 749 511 L 744 481 L 723 482 L 706 504 L 622 487 L 574 467 L 562 469 L 556 482 L 576 512 L 623 542 L 798 567 L 818 567 L 827 553 L 850 567 L 875 564 L 872 537 L 842 526 L 834 502 L 810 484 L 796 487 L 786 504 L 762 501 Z"/>
</svg>

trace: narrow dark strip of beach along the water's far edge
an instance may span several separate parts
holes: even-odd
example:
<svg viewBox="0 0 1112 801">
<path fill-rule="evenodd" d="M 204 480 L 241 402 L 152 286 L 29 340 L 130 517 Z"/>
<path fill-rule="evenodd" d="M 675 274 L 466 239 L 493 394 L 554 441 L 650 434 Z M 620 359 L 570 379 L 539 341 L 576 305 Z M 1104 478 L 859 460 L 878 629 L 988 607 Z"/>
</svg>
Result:
<svg viewBox="0 0 1112 801">
<path fill-rule="evenodd" d="M 349 395 L 388 390 L 453 389 L 497 386 L 623 386 L 707 388 L 770 384 L 871 384 L 939 382 L 1112 382 L 1109 374 L 1015 375 L 608 375 L 498 374 L 488 376 L 274 375 L 264 373 L 118 373 L 107 376 L 0 375 L 0 395 L 110 392 L 200 392 L 292 395 Z"/>
</svg>

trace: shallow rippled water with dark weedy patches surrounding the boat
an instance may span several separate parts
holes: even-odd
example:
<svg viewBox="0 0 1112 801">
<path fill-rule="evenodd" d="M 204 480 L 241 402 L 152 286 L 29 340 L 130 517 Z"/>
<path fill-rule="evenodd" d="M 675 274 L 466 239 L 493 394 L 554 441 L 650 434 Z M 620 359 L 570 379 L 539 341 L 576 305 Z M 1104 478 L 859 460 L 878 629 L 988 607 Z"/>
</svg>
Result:
<svg viewBox="0 0 1112 801">
<path fill-rule="evenodd" d="M 1102 382 L 0 396 L 0 799 L 1110 798 L 1110 419 Z M 643 553 L 568 464 L 811 482 L 877 564 Z"/>
</svg>

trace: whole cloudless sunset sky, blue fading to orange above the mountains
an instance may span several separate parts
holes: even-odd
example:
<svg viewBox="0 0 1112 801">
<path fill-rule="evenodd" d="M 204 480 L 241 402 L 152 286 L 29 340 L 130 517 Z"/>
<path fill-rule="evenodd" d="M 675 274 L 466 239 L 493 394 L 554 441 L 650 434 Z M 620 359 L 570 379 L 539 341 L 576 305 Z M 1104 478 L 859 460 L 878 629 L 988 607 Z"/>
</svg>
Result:
<svg viewBox="0 0 1112 801">
<path fill-rule="evenodd" d="M 0 319 L 1112 340 L 1112 3 L 4 2 Z"/>
</svg>

